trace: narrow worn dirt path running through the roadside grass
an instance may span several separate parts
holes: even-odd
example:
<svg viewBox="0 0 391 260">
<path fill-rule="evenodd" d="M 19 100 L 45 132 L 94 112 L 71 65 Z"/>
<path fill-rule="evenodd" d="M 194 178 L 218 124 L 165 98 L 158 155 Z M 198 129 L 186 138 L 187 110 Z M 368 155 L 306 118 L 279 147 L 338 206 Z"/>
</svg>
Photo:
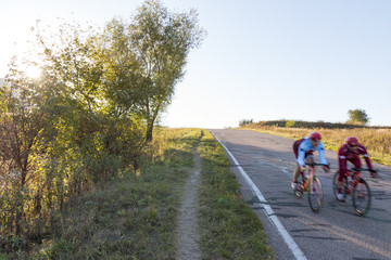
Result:
<svg viewBox="0 0 391 260">
<path fill-rule="evenodd" d="M 201 158 L 197 152 L 198 145 L 193 148 L 194 171 L 189 177 L 185 186 L 185 195 L 179 213 L 178 224 L 178 260 L 195 260 L 201 258 L 199 247 L 200 235 L 198 232 L 198 187 L 201 173 Z"/>
</svg>

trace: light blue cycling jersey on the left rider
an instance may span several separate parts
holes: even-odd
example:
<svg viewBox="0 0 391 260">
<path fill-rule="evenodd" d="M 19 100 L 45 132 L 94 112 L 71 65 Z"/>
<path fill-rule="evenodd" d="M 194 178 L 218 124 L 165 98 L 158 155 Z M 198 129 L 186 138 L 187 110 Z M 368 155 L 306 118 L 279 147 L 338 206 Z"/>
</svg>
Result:
<svg viewBox="0 0 391 260">
<path fill-rule="evenodd" d="M 304 159 L 308 155 L 313 155 L 313 152 L 315 151 L 319 152 L 320 164 L 327 165 L 327 160 L 325 157 L 325 145 L 323 144 L 323 142 L 319 142 L 319 144 L 316 147 L 312 145 L 310 138 L 303 138 L 293 143 L 293 153 L 298 164 L 301 167 L 305 165 Z"/>
</svg>

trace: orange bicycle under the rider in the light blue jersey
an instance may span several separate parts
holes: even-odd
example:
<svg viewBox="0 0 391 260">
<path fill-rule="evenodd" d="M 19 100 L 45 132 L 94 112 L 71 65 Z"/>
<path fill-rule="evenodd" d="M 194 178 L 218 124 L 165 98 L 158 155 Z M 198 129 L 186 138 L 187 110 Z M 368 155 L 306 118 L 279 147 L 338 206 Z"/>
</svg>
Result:
<svg viewBox="0 0 391 260">
<path fill-rule="evenodd" d="M 316 177 L 315 167 L 316 166 L 327 166 L 324 164 L 312 162 L 307 165 L 307 177 L 302 172 L 302 184 L 298 185 L 294 191 L 294 194 L 301 198 L 304 192 L 308 193 L 308 203 L 312 211 L 315 213 L 319 212 L 323 206 L 324 193 L 321 190 L 321 184 L 319 179 Z"/>
</svg>

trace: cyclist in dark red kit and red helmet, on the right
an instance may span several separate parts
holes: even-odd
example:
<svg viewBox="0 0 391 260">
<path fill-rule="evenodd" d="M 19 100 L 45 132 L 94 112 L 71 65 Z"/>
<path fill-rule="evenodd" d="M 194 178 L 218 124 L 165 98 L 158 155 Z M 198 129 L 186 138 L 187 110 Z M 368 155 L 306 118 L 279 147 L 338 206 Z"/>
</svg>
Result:
<svg viewBox="0 0 391 260">
<path fill-rule="evenodd" d="M 361 168 L 361 159 L 360 155 L 363 155 L 365 162 L 370 170 L 370 174 L 373 178 L 377 177 L 376 171 L 370 162 L 368 153 L 363 144 L 358 143 L 358 139 L 355 136 L 346 138 L 345 143 L 338 151 L 338 162 L 339 162 L 339 177 L 337 181 L 337 198 L 341 202 L 344 200 L 342 194 L 343 187 L 343 177 L 348 172 L 348 160 L 354 165 L 355 168 Z"/>
</svg>

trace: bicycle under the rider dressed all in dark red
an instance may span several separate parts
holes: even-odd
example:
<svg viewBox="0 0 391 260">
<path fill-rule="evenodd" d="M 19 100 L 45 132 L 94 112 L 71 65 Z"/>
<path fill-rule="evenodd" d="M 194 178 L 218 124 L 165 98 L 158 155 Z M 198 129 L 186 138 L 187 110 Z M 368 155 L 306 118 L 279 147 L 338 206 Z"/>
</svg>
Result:
<svg viewBox="0 0 391 260">
<path fill-rule="evenodd" d="M 360 217 L 366 216 L 371 205 L 371 193 L 369 190 L 369 185 L 362 178 L 361 176 L 362 171 L 370 171 L 377 173 L 376 170 L 369 170 L 364 168 L 351 168 L 351 170 L 348 171 L 348 173 L 343 178 L 344 182 L 342 188 L 343 199 L 345 199 L 348 195 L 352 195 L 353 207 L 355 209 L 355 212 Z M 337 199 L 338 199 L 337 197 L 338 177 L 339 177 L 339 172 L 337 171 L 332 179 L 332 190 Z"/>
</svg>

